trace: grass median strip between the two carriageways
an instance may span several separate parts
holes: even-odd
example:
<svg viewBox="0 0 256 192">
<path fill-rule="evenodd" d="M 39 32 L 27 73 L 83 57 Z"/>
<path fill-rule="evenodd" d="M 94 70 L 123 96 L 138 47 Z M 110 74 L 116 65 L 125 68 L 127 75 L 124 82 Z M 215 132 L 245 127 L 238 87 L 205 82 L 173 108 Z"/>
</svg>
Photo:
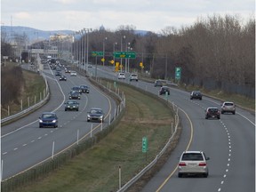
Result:
<svg viewBox="0 0 256 192">
<path fill-rule="evenodd" d="M 114 131 L 47 177 L 15 191 L 116 191 L 119 167 L 124 185 L 156 157 L 170 138 L 172 110 L 132 87 L 117 86 L 125 94 L 126 109 Z M 142 137 L 148 138 L 147 156 Z"/>
</svg>

